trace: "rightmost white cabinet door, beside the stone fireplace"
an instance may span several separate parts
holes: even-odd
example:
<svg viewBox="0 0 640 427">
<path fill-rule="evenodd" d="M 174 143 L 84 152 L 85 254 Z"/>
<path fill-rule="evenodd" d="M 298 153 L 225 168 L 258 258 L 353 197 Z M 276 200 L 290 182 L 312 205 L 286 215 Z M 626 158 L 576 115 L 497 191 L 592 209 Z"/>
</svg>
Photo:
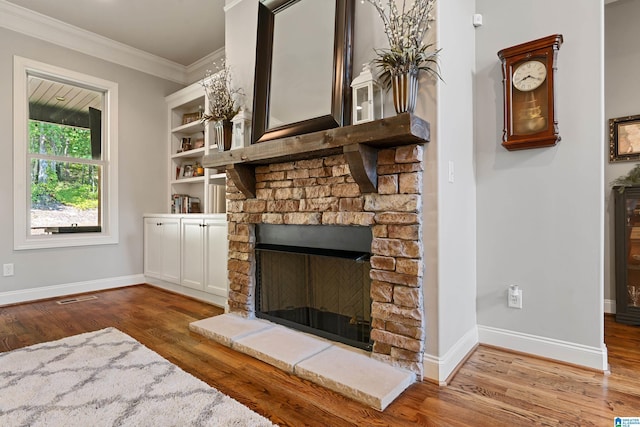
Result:
<svg viewBox="0 0 640 427">
<path fill-rule="evenodd" d="M 204 271 L 205 291 L 226 300 L 227 285 L 227 221 L 205 220 Z"/>
</svg>

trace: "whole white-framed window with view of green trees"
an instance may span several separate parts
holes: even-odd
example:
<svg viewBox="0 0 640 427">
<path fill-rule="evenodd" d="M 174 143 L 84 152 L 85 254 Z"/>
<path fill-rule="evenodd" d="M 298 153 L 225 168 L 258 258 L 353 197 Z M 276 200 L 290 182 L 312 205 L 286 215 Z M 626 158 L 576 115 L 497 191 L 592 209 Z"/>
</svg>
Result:
<svg viewBox="0 0 640 427">
<path fill-rule="evenodd" d="M 14 57 L 15 249 L 117 243 L 116 83 Z"/>
</svg>

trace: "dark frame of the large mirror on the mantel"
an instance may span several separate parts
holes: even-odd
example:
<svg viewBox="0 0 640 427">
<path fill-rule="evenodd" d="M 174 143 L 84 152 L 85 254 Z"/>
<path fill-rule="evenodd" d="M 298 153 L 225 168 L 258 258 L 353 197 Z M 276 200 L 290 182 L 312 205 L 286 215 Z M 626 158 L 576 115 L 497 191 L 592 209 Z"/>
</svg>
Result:
<svg viewBox="0 0 640 427">
<path fill-rule="evenodd" d="M 269 117 L 274 16 L 301 0 L 262 0 L 258 8 L 256 74 L 251 143 L 346 126 L 351 123 L 354 0 L 336 0 L 331 114 L 267 128 Z M 318 0 L 306 0 L 318 1 Z M 322 0 L 325 1 L 325 0 Z"/>
</svg>

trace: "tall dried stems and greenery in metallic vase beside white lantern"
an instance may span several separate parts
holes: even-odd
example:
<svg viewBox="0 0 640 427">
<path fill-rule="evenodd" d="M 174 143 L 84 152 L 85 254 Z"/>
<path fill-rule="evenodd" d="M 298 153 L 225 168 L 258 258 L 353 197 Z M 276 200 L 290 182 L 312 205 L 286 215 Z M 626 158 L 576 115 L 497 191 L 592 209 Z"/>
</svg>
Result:
<svg viewBox="0 0 640 427">
<path fill-rule="evenodd" d="M 363 0 L 364 1 L 364 0 Z M 380 69 L 381 82 L 393 92 L 397 113 L 413 112 L 418 93 L 418 74 L 424 71 L 441 79 L 438 67 L 440 49 L 424 44 L 431 28 L 435 0 L 414 0 L 407 9 L 406 0 L 398 9 L 395 0 L 367 0 L 377 10 L 389 41 L 389 48 L 376 49 L 374 63 Z"/>
</svg>

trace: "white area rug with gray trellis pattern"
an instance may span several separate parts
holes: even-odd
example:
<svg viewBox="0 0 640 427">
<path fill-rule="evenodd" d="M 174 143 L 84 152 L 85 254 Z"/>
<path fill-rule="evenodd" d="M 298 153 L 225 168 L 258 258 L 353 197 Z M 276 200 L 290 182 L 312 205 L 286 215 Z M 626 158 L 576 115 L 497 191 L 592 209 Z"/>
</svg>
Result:
<svg viewBox="0 0 640 427">
<path fill-rule="evenodd" d="M 0 353 L 0 426 L 273 426 L 114 328 Z"/>
</svg>

